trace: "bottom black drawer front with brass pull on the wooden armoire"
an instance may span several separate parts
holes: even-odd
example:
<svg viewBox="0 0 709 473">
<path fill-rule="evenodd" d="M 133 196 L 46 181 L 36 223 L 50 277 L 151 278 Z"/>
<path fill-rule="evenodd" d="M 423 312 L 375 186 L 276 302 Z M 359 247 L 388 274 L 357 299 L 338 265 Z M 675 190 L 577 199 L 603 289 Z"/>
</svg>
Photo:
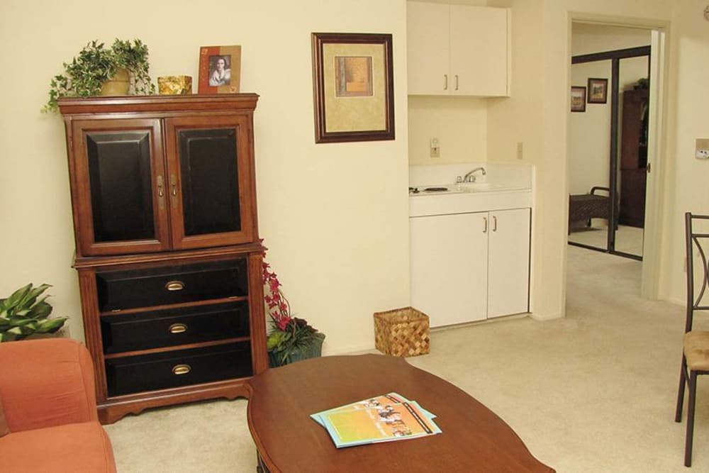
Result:
<svg viewBox="0 0 709 473">
<path fill-rule="evenodd" d="M 108 396 L 251 376 L 249 342 L 106 360 Z"/>
</svg>

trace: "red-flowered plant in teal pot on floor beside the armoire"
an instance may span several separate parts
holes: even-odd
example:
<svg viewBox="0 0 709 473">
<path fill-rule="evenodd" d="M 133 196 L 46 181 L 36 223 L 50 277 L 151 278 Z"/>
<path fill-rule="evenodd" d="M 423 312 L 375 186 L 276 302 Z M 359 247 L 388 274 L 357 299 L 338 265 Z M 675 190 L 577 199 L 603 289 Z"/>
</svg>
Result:
<svg viewBox="0 0 709 473">
<path fill-rule="evenodd" d="M 291 306 L 281 291 L 281 283 L 265 260 L 263 283 L 266 311 L 271 318 L 271 331 L 266 341 L 269 365 L 279 367 L 319 357 L 325 334 L 318 332 L 305 319 L 291 314 Z"/>
</svg>

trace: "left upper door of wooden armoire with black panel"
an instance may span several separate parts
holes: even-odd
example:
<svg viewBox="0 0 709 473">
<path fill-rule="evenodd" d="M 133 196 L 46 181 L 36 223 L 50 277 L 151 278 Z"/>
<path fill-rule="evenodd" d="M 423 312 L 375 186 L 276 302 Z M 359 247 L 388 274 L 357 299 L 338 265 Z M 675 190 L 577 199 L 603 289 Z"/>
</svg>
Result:
<svg viewBox="0 0 709 473">
<path fill-rule="evenodd" d="M 160 121 L 72 123 L 74 219 L 81 255 L 167 250 Z"/>
</svg>

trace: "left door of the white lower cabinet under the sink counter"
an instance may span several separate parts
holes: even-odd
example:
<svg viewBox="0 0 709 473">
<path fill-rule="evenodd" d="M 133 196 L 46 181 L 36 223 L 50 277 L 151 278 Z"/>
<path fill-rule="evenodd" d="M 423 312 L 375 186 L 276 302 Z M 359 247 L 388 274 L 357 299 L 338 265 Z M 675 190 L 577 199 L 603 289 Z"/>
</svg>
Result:
<svg viewBox="0 0 709 473">
<path fill-rule="evenodd" d="M 487 309 L 487 213 L 410 218 L 411 305 L 438 327 Z"/>
</svg>

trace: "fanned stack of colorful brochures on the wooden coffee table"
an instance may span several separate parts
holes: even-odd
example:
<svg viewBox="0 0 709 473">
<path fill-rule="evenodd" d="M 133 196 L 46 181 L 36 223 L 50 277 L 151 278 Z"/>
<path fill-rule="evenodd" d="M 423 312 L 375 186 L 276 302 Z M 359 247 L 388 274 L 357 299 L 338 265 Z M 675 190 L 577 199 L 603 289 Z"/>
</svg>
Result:
<svg viewBox="0 0 709 473">
<path fill-rule="evenodd" d="M 415 401 L 389 393 L 311 415 L 337 448 L 441 433 L 435 416 Z"/>
</svg>

